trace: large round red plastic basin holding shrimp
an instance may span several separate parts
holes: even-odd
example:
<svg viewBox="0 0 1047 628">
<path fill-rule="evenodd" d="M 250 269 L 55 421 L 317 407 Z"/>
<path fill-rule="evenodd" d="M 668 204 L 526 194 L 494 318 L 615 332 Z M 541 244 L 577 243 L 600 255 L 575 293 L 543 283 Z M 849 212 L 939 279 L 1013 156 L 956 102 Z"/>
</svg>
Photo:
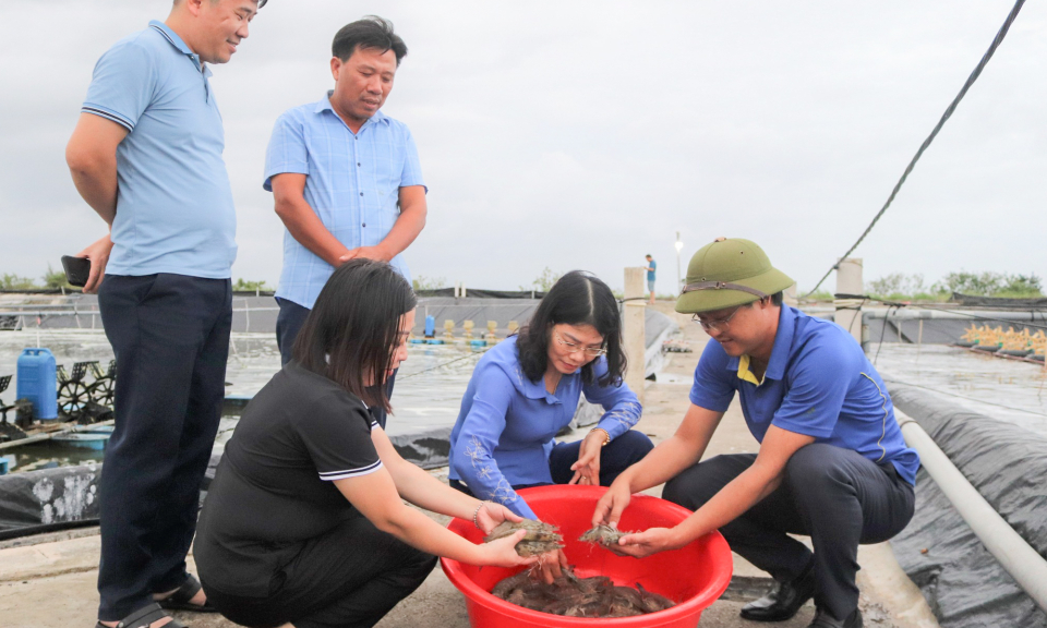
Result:
<svg viewBox="0 0 1047 628">
<path fill-rule="evenodd" d="M 717 601 L 731 581 L 734 568 L 731 548 L 719 532 L 712 532 L 672 552 L 661 552 L 647 558 L 617 556 L 577 541 L 591 528 L 592 511 L 597 500 L 606 491 L 601 486 L 553 485 L 525 488 L 520 495 L 527 499 L 534 514 L 545 522 L 559 527 L 564 535 L 567 560 L 575 565 L 579 577 L 607 576 L 615 584 L 635 587 L 643 584 L 648 591 L 661 593 L 677 602 L 676 606 L 659 613 L 637 617 L 613 619 L 587 619 L 562 617 L 549 613 L 529 611 L 509 604 L 490 593 L 502 580 L 520 569 L 502 567 L 477 567 L 450 558 L 441 558 L 447 578 L 466 596 L 466 608 L 473 628 L 517 628 L 559 626 L 614 626 L 614 627 L 673 627 L 694 628 L 701 612 Z M 634 495 L 619 522 L 622 530 L 671 528 L 684 520 L 690 511 L 664 499 L 647 495 Z M 466 539 L 479 543 L 482 534 L 472 521 L 454 519 L 449 529 Z"/>
</svg>

